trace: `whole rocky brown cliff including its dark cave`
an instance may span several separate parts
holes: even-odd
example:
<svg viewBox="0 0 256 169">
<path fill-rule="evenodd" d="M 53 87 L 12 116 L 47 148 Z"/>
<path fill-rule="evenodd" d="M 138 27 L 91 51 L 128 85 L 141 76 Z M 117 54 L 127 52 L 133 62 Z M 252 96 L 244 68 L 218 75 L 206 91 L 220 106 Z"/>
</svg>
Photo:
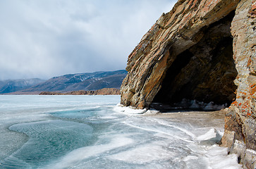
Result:
<svg viewBox="0 0 256 169">
<path fill-rule="evenodd" d="M 179 0 L 128 56 L 121 104 L 231 105 L 222 142 L 255 168 L 255 0 Z"/>
</svg>

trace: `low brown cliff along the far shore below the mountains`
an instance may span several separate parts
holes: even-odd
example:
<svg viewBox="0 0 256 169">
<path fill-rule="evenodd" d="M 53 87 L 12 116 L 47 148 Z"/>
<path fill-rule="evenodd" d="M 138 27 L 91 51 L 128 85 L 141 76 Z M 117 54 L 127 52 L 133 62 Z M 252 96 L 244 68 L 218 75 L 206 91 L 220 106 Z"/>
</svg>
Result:
<svg viewBox="0 0 256 169">
<path fill-rule="evenodd" d="M 98 90 L 79 90 L 73 92 L 41 92 L 39 95 L 119 95 L 120 90 L 116 88 L 103 88 Z"/>
</svg>

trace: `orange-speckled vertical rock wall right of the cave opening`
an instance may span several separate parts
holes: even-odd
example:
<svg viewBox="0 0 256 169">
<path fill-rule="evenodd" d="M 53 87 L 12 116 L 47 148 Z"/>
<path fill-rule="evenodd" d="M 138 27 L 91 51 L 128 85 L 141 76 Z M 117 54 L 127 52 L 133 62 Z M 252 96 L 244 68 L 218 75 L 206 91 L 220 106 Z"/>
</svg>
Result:
<svg viewBox="0 0 256 169">
<path fill-rule="evenodd" d="M 234 101 L 225 118 L 222 142 L 240 156 L 247 168 L 256 168 L 256 2 L 240 1 L 231 24 L 233 58 L 238 76 Z M 254 151 L 252 151 L 254 150 Z"/>
</svg>

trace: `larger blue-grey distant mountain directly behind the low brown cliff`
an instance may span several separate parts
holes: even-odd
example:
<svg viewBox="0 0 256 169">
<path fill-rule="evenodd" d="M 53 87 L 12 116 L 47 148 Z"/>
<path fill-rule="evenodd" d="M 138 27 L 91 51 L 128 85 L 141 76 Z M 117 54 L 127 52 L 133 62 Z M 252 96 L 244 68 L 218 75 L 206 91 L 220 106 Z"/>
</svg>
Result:
<svg viewBox="0 0 256 169">
<path fill-rule="evenodd" d="M 52 77 L 46 82 L 37 84 L 20 93 L 38 92 L 71 92 L 78 90 L 97 90 L 103 88 L 120 89 L 126 70 L 111 72 L 78 73 Z"/>
</svg>

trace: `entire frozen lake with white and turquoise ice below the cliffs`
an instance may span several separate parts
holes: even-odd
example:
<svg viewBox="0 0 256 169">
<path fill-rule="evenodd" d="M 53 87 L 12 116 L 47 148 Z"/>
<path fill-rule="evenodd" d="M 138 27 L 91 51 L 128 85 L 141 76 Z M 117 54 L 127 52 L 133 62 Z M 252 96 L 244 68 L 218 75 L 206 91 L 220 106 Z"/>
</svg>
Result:
<svg viewBox="0 0 256 169">
<path fill-rule="evenodd" d="M 198 113 L 170 118 L 119 101 L 0 96 L 0 168 L 240 168 L 237 156 L 216 144 L 222 118 L 202 125 Z"/>
</svg>

